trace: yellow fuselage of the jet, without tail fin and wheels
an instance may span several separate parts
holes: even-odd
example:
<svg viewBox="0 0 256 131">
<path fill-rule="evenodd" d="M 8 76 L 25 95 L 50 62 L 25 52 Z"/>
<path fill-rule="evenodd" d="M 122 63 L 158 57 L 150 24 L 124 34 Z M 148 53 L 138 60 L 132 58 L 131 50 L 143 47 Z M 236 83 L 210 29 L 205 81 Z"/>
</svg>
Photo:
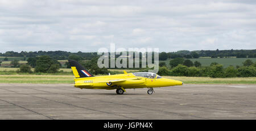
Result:
<svg viewBox="0 0 256 131">
<path fill-rule="evenodd" d="M 85 89 L 117 89 L 122 87 L 124 89 L 131 88 L 160 88 L 164 86 L 182 85 L 183 82 L 171 80 L 168 78 L 155 77 L 147 78 L 135 76 L 133 73 L 124 73 L 119 75 L 97 76 L 75 78 L 76 88 Z"/>
</svg>

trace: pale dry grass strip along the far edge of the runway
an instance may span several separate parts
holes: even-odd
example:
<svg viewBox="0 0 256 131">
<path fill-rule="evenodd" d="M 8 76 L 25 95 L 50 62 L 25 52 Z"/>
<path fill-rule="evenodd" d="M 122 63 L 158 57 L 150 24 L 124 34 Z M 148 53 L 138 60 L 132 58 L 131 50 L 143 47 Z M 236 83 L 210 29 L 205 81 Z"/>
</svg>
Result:
<svg viewBox="0 0 256 131">
<path fill-rule="evenodd" d="M 209 77 L 174 77 L 163 76 L 183 81 L 184 84 L 256 84 L 256 77 L 246 78 L 209 78 Z M 0 83 L 42 83 L 73 84 L 73 75 L 0 75 Z"/>
</svg>

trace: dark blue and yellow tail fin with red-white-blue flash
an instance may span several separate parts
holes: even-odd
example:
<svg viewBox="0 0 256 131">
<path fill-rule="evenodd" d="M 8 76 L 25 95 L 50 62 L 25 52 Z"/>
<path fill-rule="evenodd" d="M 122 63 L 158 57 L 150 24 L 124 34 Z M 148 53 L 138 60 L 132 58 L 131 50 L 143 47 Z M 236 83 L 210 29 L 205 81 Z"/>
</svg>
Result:
<svg viewBox="0 0 256 131">
<path fill-rule="evenodd" d="M 79 64 L 76 60 L 68 60 L 68 63 L 70 64 L 70 67 L 76 78 L 94 77 L 92 73 L 82 67 L 82 65 Z"/>
</svg>

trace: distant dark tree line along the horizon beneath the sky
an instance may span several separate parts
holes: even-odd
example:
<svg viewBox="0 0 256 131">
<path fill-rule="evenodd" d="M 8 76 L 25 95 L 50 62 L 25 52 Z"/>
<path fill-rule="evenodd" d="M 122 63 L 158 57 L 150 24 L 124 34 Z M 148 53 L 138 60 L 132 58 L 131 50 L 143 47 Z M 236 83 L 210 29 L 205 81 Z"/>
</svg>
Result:
<svg viewBox="0 0 256 131">
<path fill-rule="evenodd" d="M 110 54 L 110 53 L 109 53 Z M 77 53 L 71 53 L 68 51 L 21 51 L 20 53 L 15 51 L 7 51 L 6 53 L 0 53 L 0 56 L 5 57 L 24 57 L 35 58 L 36 56 L 48 55 L 52 59 L 65 60 L 71 55 L 77 55 L 83 60 L 90 60 L 97 55 L 96 52 L 92 53 L 82 53 L 81 51 Z M 115 55 L 117 58 L 119 55 Z M 141 54 L 140 54 L 141 56 Z M 159 53 L 159 60 L 166 60 L 168 58 L 199 58 L 199 57 L 210 57 L 210 58 L 224 58 L 224 57 L 236 57 L 236 58 L 256 58 L 256 50 L 180 50 L 176 52 L 162 52 Z"/>
</svg>

